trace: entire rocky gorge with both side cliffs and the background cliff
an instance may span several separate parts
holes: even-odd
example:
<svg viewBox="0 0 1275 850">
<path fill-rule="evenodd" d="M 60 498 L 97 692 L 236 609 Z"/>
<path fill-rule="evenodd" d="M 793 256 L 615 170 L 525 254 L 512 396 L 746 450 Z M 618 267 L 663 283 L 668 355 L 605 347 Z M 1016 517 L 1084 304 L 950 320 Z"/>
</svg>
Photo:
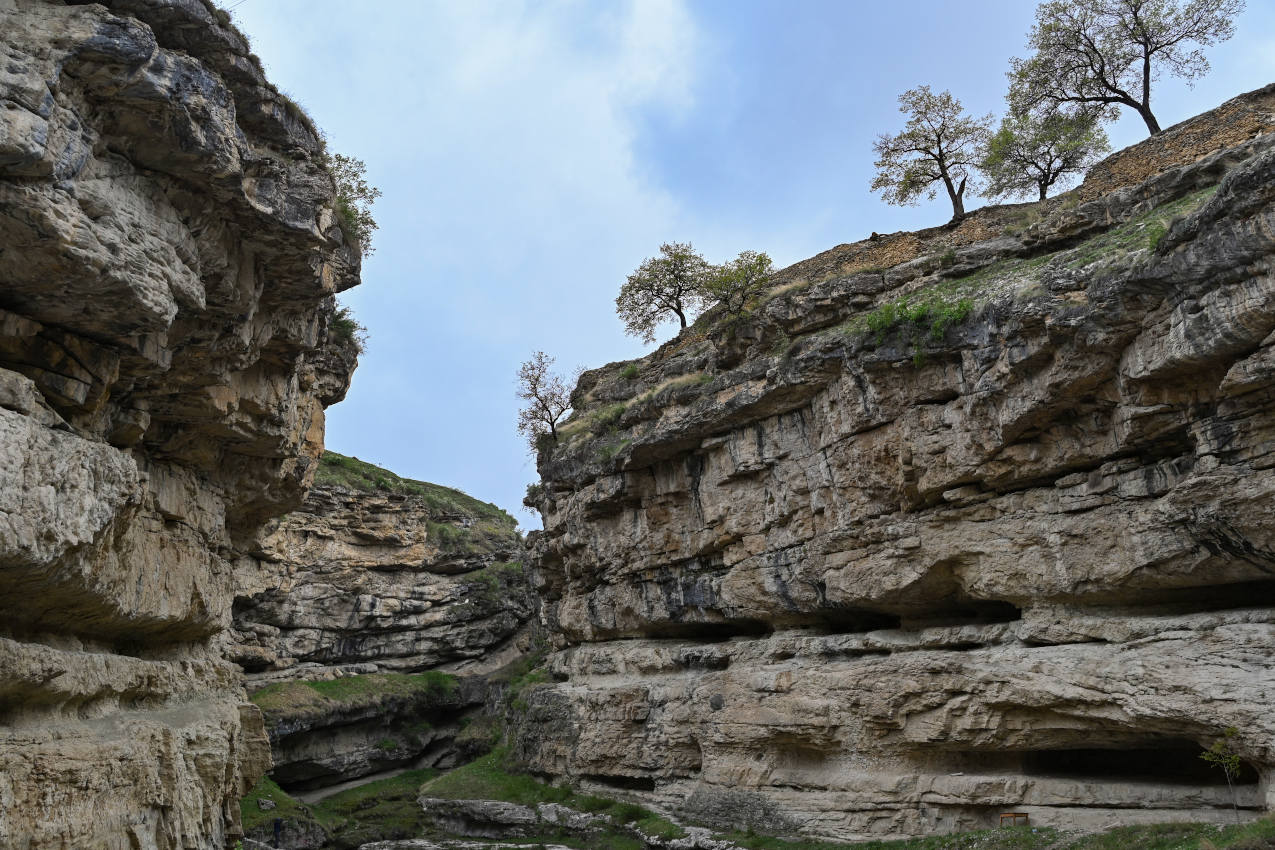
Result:
<svg viewBox="0 0 1275 850">
<path fill-rule="evenodd" d="M 224 13 L 0 48 L 0 846 L 1275 809 L 1275 85 L 583 372 L 524 537 L 325 451 L 361 246 Z"/>
</svg>

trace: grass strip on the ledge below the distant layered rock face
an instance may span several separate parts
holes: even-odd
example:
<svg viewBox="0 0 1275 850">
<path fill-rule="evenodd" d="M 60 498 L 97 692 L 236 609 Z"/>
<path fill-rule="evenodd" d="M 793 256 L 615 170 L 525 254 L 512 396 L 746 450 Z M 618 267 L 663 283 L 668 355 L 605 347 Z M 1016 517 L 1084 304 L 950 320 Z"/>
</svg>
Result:
<svg viewBox="0 0 1275 850">
<path fill-rule="evenodd" d="M 446 698 L 459 679 L 449 673 L 368 673 L 321 682 L 278 682 L 254 691 L 249 700 L 265 712 L 266 723 L 342 709 L 376 705 L 386 697 Z"/>
</svg>

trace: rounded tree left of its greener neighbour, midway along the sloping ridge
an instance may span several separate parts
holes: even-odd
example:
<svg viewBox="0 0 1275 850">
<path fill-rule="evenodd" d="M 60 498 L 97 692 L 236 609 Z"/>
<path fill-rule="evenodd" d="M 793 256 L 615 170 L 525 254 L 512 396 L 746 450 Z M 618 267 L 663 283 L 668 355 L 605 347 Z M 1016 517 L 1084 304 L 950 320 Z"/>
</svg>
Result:
<svg viewBox="0 0 1275 850">
<path fill-rule="evenodd" d="M 709 264 L 690 242 L 666 242 L 659 256 L 648 257 L 629 275 L 616 297 L 616 313 L 625 333 L 644 343 L 655 342 L 655 328 L 677 316 L 686 317 L 704 306 L 704 283 Z"/>
</svg>

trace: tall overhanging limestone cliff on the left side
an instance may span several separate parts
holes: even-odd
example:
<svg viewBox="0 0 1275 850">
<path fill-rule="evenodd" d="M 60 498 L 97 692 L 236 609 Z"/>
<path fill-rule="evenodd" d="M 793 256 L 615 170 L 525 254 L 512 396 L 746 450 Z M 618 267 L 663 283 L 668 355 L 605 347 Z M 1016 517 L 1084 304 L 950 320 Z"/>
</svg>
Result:
<svg viewBox="0 0 1275 850">
<path fill-rule="evenodd" d="M 358 252 L 196 0 L 0 0 L 0 845 L 222 847 L 269 766 L 232 565 L 301 503 Z"/>
</svg>

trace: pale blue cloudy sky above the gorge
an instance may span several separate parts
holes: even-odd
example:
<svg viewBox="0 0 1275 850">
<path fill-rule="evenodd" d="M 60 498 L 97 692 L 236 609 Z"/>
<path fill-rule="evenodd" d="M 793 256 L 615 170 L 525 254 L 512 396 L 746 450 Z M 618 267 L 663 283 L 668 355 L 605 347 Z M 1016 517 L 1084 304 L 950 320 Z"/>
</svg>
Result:
<svg viewBox="0 0 1275 850">
<path fill-rule="evenodd" d="M 868 191 L 872 139 L 928 84 L 1000 112 L 1035 4 L 821 0 L 224 0 L 270 79 L 384 192 L 363 284 L 370 334 L 328 447 L 518 516 L 534 461 L 514 431 L 536 349 L 638 357 L 615 297 L 663 241 L 776 265 L 947 201 Z M 1213 73 L 1153 93 L 1164 126 L 1275 80 L 1275 4 L 1250 0 Z M 357 10 L 357 11 L 354 11 Z M 959 14 L 958 14 L 959 10 Z M 1109 127 L 1145 136 L 1135 115 Z M 968 208 L 982 201 L 966 201 Z M 672 329 L 667 335 L 671 335 Z"/>
</svg>

